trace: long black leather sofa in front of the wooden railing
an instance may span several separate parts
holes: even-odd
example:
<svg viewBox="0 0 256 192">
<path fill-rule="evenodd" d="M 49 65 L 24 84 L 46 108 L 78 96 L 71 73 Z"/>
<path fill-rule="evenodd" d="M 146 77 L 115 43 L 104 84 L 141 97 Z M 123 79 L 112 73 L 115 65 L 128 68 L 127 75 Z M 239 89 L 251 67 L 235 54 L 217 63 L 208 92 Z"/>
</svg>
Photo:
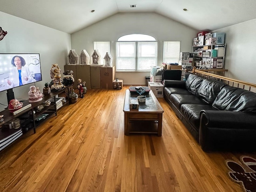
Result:
<svg viewBox="0 0 256 192">
<path fill-rule="evenodd" d="M 195 74 L 163 83 L 165 100 L 204 151 L 256 150 L 256 93 Z"/>
</svg>

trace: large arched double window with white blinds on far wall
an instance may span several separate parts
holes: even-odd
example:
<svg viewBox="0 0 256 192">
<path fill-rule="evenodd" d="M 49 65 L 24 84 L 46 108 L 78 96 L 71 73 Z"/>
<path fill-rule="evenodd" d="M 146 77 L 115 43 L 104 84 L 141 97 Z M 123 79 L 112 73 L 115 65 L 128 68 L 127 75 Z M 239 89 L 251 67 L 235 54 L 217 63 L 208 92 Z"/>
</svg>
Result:
<svg viewBox="0 0 256 192">
<path fill-rule="evenodd" d="M 116 70 L 144 71 L 157 65 L 156 38 L 145 34 L 129 34 L 116 42 Z"/>
</svg>

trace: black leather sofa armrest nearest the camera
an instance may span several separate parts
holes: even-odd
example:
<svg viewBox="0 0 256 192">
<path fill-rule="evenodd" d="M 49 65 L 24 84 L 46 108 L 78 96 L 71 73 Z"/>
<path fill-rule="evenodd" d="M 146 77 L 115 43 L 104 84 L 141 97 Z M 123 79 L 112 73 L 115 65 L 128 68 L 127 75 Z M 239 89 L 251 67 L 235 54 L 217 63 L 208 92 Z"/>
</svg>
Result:
<svg viewBox="0 0 256 192">
<path fill-rule="evenodd" d="M 256 150 L 256 114 L 202 110 L 198 142 L 206 152 Z"/>
</svg>

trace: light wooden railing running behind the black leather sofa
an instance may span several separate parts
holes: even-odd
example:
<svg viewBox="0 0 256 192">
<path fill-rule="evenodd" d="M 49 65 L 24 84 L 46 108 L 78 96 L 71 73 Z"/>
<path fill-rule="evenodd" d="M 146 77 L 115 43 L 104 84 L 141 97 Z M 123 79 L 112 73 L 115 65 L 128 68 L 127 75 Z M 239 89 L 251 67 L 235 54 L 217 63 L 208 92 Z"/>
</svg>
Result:
<svg viewBox="0 0 256 192">
<path fill-rule="evenodd" d="M 228 78 L 222 75 L 214 74 L 212 72 L 225 72 L 228 70 L 220 69 L 220 70 L 196 70 L 196 68 L 193 68 L 192 73 L 197 74 L 199 76 L 204 76 L 206 78 L 210 79 L 216 79 L 222 82 L 225 82 L 226 84 L 233 86 L 233 87 L 239 87 L 245 90 L 249 90 L 252 92 L 256 92 L 256 84 L 240 81 L 232 78 Z"/>
</svg>

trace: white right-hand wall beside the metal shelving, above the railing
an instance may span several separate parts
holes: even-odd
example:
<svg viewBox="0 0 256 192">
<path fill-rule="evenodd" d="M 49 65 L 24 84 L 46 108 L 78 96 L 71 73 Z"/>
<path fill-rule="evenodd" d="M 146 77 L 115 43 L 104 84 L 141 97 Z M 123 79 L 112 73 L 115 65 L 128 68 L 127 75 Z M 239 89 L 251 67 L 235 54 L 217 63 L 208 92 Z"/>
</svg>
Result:
<svg viewBox="0 0 256 192">
<path fill-rule="evenodd" d="M 225 76 L 256 84 L 256 19 L 214 32 L 225 32 Z"/>
</svg>

